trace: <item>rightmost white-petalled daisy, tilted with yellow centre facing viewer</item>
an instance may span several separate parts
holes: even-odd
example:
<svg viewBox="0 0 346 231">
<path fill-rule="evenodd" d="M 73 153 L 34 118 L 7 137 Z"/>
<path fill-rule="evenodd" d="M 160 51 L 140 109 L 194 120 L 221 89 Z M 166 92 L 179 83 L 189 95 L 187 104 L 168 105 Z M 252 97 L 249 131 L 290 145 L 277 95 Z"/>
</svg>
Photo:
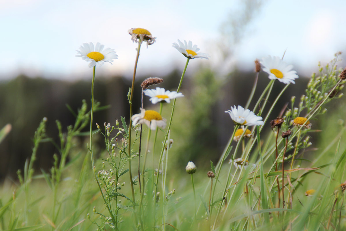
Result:
<svg viewBox="0 0 346 231">
<path fill-rule="evenodd" d="M 277 56 L 263 57 L 260 62 L 263 65 L 263 71 L 269 74 L 269 79 L 277 79 L 283 83 L 295 83 L 294 79 L 298 79 L 297 71 L 293 71 L 293 65 L 287 65 Z"/>
</svg>

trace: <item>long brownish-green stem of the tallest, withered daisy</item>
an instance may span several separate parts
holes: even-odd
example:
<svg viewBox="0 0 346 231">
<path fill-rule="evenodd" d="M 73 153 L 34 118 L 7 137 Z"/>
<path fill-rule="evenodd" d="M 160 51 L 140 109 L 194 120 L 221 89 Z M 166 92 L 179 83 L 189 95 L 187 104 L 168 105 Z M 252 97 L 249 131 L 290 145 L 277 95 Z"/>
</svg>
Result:
<svg viewBox="0 0 346 231">
<path fill-rule="evenodd" d="M 131 131 L 132 131 L 132 115 L 133 115 L 133 110 L 132 110 L 132 99 L 133 99 L 133 91 L 135 87 L 135 78 L 136 78 L 136 70 L 137 70 L 137 63 L 138 63 L 138 57 L 139 57 L 139 51 L 140 51 L 140 39 L 138 42 L 138 48 L 137 48 L 137 55 L 136 55 L 136 61 L 135 61 L 135 68 L 133 71 L 133 78 L 132 78 L 132 85 L 131 85 L 131 92 L 130 92 L 130 100 L 129 100 L 129 106 L 130 106 L 130 124 L 129 124 L 129 139 L 128 139 L 128 146 L 129 146 L 129 151 L 128 151 L 128 156 L 131 157 Z M 130 184 L 131 184 L 131 192 L 132 192 L 132 203 L 134 205 L 134 210 L 136 210 L 135 206 L 135 189 L 133 186 L 133 179 L 132 179 L 132 171 L 131 171 L 131 159 L 129 158 L 129 175 L 130 175 Z"/>
</svg>

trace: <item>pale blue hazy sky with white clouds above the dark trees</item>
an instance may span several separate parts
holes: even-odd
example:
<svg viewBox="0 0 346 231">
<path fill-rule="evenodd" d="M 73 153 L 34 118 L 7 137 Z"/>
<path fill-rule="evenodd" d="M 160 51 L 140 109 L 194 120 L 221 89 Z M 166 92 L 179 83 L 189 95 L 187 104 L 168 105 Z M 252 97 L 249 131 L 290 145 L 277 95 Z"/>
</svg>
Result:
<svg viewBox="0 0 346 231">
<path fill-rule="evenodd" d="M 233 56 L 223 62 L 217 44 L 222 23 L 244 13 L 242 0 L 0 0 L 0 79 L 18 73 L 47 78 L 71 79 L 90 75 L 92 69 L 75 57 L 82 43 L 100 42 L 115 49 L 118 60 L 104 64 L 98 73 L 133 72 L 137 47 L 127 30 L 148 29 L 156 43 L 142 46 L 139 73 L 166 73 L 183 68 L 185 57 L 172 43 L 191 40 L 209 53 L 210 60 L 192 60 L 189 68 L 209 64 L 231 70 L 234 65 L 253 69 L 253 61 L 268 54 L 282 56 L 295 69 L 307 74 L 318 61 L 331 60 L 345 51 L 344 0 L 266 0 L 253 12 L 244 37 L 232 47 Z M 252 15 L 252 12 L 248 12 Z"/>
</svg>

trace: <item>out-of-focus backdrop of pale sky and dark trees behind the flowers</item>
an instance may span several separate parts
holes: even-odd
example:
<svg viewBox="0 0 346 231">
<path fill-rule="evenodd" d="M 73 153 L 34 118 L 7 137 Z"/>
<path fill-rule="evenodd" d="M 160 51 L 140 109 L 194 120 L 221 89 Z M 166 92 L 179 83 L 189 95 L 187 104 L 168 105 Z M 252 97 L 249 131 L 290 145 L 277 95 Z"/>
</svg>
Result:
<svg viewBox="0 0 346 231">
<path fill-rule="evenodd" d="M 293 95 L 300 97 L 311 72 L 318 71 L 317 63 L 325 65 L 334 53 L 345 50 L 346 30 L 340 23 L 340 9 L 345 7 L 343 0 L 328 4 L 322 0 L 2 1 L 0 128 L 11 124 L 12 130 L 0 143 L 0 180 L 15 177 L 24 167 L 43 117 L 48 118 L 47 134 L 57 141 L 55 120 L 66 129 L 75 119 L 66 104 L 75 112 L 83 99 L 90 106 L 92 69 L 75 57 L 82 43 L 100 42 L 119 55 L 113 65 L 96 68 L 95 99 L 109 105 L 95 113 L 94 121 L 100 125 L 114 125 L 120 116 L 129 118 L 127 91 L 137 45 L 130 40 L 128 29 L 143 27 L 157 37 L 155 44 L 141 49 L 135 113 L 140 107 L 139 85 L 145 78 L 161 77 L 160 87 L 176 90 L 186 59 L 172 47 L 173 42 L 191 40 L 208 53 L 210 60 L 189 63 L 181 90 L 185 97 L 177 101 L 173 123 L 176 147 L 170 151 L 182 166 L 190 160 L 208 165 L 219 158 L 233 130 L 224 111 L 246 103 L 255 78 L 254 60 L 266 55 L 281 57 L 286 51 L 284 61 L 294 65 L 300 78 L 278 105 Z M 267 74 L 260 73 L 257 97 L 268 82 Z M 283 86 L 275 82 L 272 95 Z M 343 105 L 340 100 L 337 104 Z M 157 108 L 148 98 L 144 106 Z M 333 105 L 328 108 L 332 110 Z M 166 109 L 169 116 L 170 107 Z M 281 109 L 275 110 L 273 118 Z M 319 137 L 314 139 L 317 142 Z M 85 147 L 88 136 L 81 136 L 80 142 Z M 36 168 L 49 169 L 54 153 L 54 145 L 43 143 Z"/>
</svg>

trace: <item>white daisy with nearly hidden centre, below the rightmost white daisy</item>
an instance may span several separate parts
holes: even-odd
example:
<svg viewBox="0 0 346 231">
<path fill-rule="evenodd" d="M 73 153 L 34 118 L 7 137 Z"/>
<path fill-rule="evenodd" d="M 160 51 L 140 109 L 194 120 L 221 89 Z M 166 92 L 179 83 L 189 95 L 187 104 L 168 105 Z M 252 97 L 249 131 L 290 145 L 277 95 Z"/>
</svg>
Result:
<svg viewBox="0 0 346 231">
<path fill-rule="evenodd" d="M 231 107 L 231 110 L 225 112 L 229 113 L 231 119 L 237 125 L 252 126 L 264 124 L 261 116 L 256 116 L 251 110 L 245 110 L 242 106 L 238 106 L 238 108 L 236 108 L 236 106 L 234 106 L 234 108 Z"/>
</svg>

